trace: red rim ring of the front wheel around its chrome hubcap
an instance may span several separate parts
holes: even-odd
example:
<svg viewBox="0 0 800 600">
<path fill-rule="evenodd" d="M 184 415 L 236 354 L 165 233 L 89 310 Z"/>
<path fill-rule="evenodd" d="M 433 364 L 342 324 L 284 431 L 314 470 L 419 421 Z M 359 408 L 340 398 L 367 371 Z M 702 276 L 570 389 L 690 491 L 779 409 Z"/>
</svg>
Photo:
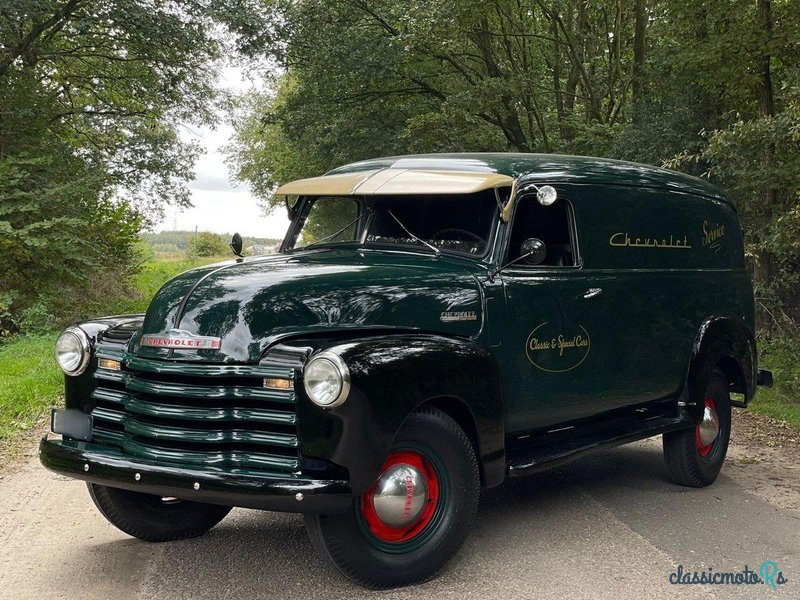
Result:
<svg viewBox="0 0 800 600">
<path fill-rule="evenodd" d="M 391 467 L 396 465 L 410 465 L 419 471 L 425 479 L 428 488 L 428 498 L 425 507 L 419 516 L 404 527 L 391 527 L 384 523 L 375 510 L 374 496 L 378 480 Z M 412 450 L 398 450 L 392 452 L 381 467 L 375 483 L 361 496 L 361 514 L 369 527 L 370 532 L 382 542 L 407 542 L 419 535 L 433 519 L 436 506 L 439 502 L 439 476 L 428 459 Z"/>
</svg>

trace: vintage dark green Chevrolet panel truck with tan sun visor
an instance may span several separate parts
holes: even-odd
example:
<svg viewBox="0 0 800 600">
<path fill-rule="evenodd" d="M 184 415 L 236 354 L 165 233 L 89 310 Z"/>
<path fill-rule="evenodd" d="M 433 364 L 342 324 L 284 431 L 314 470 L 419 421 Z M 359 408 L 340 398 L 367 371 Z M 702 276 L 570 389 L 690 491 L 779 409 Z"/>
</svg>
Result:
<svg viewBox="0 0 800 600">
<path fill-rule="evenodd" d="M 663 434 L 717 477 L 758 384 L 735 207 L 589 157 L 407 156 L 286 184 L 274 256 L 195 269 L 57 342 L 45 467 L 151 542 L 303 513 L 375 588 L 431 577 L 481 488 Z M 239 254 L 241 239 L 232 247 Z"/>
</svg>

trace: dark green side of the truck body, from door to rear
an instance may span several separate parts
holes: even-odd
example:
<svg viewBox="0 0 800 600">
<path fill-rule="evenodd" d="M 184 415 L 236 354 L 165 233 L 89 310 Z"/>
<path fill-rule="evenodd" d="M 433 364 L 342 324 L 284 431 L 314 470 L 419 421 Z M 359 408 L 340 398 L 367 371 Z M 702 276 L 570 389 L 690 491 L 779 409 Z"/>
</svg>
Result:
<svg viewBox="0 0 800 600">
<path fill-rule="evenodd" d="M 506 285 L 509 345 L 509 434 L 548 428 L 636 403 L 677 399 L 686 384 L 692 347 L 704 321 L 729 316 L 753 329 L 752 287 L 744 271 L 741 230 L 724 202 L 685 193 L 623 186 L 556 185 L 574 209 L 578 267 L 511 268 Z M 520 205 L 535 201 L 522 195 Z M 712 249 L 706 222 L 724 226 Z M 512 221 L 513 226 L 513 221 Z M 614 247 L 613 236 L 635 243 L 684 247 Z M 591 290 L 599 295 L 586 298 Z M 525 352 L 542 324 L 571 338 L 588 333 L 591 345 L 578 366 L 551 372 Z M 551 336 L 552 339 L 552 336 Z M 568 356 L 581 356 L 567 349 Z M 547 364 L 542 365 L 548 368 Z"/>
</svg>

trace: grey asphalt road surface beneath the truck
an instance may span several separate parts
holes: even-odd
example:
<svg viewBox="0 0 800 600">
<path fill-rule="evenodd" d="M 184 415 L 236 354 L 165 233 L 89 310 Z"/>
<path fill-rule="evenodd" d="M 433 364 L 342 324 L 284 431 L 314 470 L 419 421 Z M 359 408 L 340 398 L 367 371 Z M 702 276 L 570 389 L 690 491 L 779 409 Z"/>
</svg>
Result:
<svg viewBox="0 0 800 600">
<path fill-rule="evenodd" d="M 325 567 L 294 515 L 235 510 L 199 539 L 130 539 L 103 520 L 82 483 L 30 459 L 0 480 L 0 596 L 800 598 L 800 470 L 733 454 L 702 490 L 667 480 L 656 440 L 489 490 L 440 576 L 389 592 L 362 590 Z M 668 581 L 679 564 L 739 571 L 765 560 L 788 579 L 777 591 Z"/>
</svg>

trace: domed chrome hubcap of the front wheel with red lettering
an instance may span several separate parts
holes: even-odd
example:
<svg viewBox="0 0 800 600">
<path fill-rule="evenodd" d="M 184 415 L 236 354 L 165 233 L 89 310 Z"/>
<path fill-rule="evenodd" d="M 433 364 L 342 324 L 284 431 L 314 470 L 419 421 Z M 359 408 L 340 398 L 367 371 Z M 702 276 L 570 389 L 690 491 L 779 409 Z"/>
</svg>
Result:
<svg viewBox="0 0 800 600">
<path fill-rule="evenodd" d="M 378 518 L 389 527 L 413 523 L 428 502 L 428 485 L 415 467 L 401 463 L 384 471 L 375 486 L 373 503 Z"/>
</svg>

